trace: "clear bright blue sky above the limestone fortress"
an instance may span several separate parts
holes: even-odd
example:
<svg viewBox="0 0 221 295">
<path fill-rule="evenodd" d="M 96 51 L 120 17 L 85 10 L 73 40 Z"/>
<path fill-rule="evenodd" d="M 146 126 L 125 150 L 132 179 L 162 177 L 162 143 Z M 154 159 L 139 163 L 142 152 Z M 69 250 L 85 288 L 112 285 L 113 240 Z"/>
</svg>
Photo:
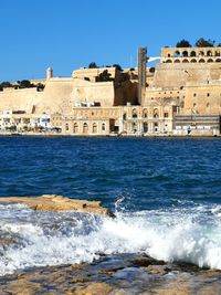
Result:
<svg viewBox="0 0 221 295">
<path fill-rule="evenodd" d="M 138 46 L 159 55 L 187 39 L 221 42 L 220 0 L 1 0 L 0 81 L 56 76 L 74 69 L 136 66 Z"/>
</svg>

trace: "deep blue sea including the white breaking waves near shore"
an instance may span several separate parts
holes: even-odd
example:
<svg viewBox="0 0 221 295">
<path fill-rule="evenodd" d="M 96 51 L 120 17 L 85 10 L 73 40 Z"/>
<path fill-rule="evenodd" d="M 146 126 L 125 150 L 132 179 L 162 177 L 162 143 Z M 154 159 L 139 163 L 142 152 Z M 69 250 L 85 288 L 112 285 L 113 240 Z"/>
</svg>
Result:
<svg viewBox="0 0 221 295">
<path fill-rule="evenodd" d="M 0 275 L 146 253 L 221 270 L 219 138 L 0 137 L 0 197 L 99 200 L 116 218 L 0 204 Z M 15 241 L 15 242 L 14 242 Z"/>
</svg>

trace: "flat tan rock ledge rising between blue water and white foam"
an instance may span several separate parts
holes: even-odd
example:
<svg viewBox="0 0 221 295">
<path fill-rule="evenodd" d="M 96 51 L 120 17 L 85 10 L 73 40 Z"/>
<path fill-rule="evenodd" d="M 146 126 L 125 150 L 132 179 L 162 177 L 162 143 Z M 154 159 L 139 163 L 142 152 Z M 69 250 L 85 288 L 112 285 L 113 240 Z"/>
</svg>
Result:
<svg viewBox="0 0 221 295">
<path fill-rule="evenodd" d="M 7 197 L 0 198 L 0 203 L 22 203 L 40 211 L 70 211 L 95 213 L 98 215 L 114 217 L 99 201 L 69 199 L 63 196 L 43 194 L 41 197 Z"/>
</svg>

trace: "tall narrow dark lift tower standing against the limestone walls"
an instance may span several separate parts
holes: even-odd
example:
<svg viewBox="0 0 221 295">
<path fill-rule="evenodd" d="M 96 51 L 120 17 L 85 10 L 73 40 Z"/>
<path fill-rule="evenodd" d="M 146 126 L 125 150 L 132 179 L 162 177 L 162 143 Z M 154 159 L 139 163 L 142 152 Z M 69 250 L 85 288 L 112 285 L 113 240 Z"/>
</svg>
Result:
<svg viewBox="0 0 221 295">
<path fill-rule="evenodd" d="M 147 48 L 139 48 L 138 49 L 138 103 L 140 105 L 145 101 L 146 65 L 147 65 Z"/>
</svg>

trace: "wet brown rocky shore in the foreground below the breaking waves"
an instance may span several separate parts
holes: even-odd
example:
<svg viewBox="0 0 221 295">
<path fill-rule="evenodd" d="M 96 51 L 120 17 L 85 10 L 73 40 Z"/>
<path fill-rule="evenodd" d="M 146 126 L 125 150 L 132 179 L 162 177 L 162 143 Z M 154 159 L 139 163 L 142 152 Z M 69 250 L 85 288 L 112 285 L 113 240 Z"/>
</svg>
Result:
<svg viewBox="0 0 221 295">
<path fill-rule="evenodd" d="M 60 265 L 0 277 L 0 294 L 218 295 L 221 271 L 165 263 L 143 254 L 103 256 L 92 264 Z"/>
</svg>

